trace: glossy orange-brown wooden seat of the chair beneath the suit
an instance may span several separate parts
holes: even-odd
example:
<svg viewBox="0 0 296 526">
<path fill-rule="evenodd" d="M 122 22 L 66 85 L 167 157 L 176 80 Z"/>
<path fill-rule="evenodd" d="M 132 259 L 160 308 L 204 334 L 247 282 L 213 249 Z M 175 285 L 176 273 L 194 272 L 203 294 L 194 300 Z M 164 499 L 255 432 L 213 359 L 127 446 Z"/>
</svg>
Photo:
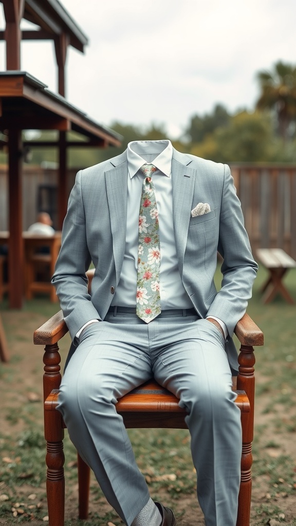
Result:
<svg viewBox="0 0 296 526">
<path fill-rule="evenodd" d="M 238 394 L 236 405 L 243 413 L 250 412 L 250 402 L 246 393 L 238 390 L 235 392 Z M 58 389 L 53 389 L 46 398 L 46 411 L 56 409 L 58 393 Z M 123 417 L 127 428 L 135 427 L 135 422 L 138 428 L 176 428 L 176 422 L 180 429 L 187 427 L 184 422 L 187 413 L 179 406 L 179 400 L 154 380 L 143 383 L 120 398 L 116 404 L 116 411 Z"/>
</svg>

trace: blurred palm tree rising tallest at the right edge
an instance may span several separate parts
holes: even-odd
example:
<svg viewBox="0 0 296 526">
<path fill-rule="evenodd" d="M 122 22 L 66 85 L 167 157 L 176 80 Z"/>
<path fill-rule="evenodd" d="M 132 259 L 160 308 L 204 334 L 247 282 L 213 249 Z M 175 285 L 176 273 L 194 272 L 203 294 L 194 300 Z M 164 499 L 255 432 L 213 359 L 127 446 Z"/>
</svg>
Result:
<svg viewBox="0 0 296 526">
<path fill-rule="evenodd" d="M 285 140 L 291 123 L 296 122 L 296 66 L 279 61 L 272 72 L 260 71 L 257 78 L 261 95 L 256 107 L 275 111 L 279 133 Z"/>
</svg>

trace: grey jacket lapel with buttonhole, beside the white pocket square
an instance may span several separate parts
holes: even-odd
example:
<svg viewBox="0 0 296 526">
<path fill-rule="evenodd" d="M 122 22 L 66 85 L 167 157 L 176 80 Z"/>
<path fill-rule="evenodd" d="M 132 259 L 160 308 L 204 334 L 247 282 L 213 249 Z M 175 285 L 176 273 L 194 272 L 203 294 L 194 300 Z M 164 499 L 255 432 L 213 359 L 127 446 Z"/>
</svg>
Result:
<svg viewBox="0 0 296 526">
<path fill-rule="evenodd" d="M 173 150 L 173 221 L 176 252 L 182 276 L 183 261 L 188 236 L 189 221 L 195 184 L 196 170 L 190 168 L 191 158 Z"/>
</svg>

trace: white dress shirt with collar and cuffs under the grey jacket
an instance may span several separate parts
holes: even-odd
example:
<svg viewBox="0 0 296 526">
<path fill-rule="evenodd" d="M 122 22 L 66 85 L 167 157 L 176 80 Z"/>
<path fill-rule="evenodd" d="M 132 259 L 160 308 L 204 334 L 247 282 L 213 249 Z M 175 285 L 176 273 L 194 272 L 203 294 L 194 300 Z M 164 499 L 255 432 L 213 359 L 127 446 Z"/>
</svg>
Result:
<svg viewBox="0 0 296 526">
<path fill-rule="evenodd" d="M 145 176 L 140 171 L 145 163 L 152 163 L 157 170 L 152 180 L 155 190 L 160 231 L 160 298 L 161 308 L 190 309 L 193 304 L 185 291 L 177 265 L 173 227 L 172 165 L 173 147 L 170 140 L 133 141 L 127 146 L 127 214 L 126 241 L 123 265 L 111 305 L 117 307 L 136 307 L 137 258 L 139 237 L 139 212 L 142 185 Z M 196 276 L 198 279 L 198 276 Z M 228 334 L 225 324 L 212 316 L 222 326 L 224 335 Z M 81 331 L 91 322 L 86 323 Z"/>
</svg>

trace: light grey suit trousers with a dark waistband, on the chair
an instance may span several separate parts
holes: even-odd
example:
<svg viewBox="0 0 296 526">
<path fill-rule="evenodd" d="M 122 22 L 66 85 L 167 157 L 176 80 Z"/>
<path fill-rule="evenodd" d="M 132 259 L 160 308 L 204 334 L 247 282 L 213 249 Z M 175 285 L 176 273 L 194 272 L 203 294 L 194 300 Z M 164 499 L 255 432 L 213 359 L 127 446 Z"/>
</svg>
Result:
<svg viewBox="0 0 296 526">
<path fill-rule="evenodd" d="M 70 438 L 124 522 L 149 500 L 115 404 L 152 376 L 186 408 L 198 499 L 206 526 L 235 526 L 241 423 L 220 331 L 196 316 L 108 313 L 84 329 L 61 385 L 59 410 Z"/>
</svg>

